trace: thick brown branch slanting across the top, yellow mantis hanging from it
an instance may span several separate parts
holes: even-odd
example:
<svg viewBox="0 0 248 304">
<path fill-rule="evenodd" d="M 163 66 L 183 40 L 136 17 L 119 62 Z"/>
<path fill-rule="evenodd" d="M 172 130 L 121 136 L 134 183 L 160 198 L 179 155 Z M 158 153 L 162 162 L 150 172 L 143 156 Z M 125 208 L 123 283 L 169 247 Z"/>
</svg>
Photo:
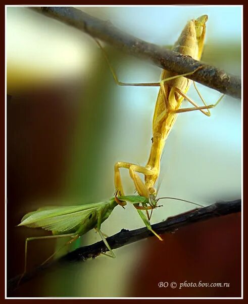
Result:
<svg viewBox="0 0 248 304">
<path fill-rule="evenodd" d="M 31 9 L 74 26 L 124 52 L 148 59 L 153 64 L 178 74 L 188 73 L 203 66 L 188 78 L 226 95 L 241 98 L 240 77 L 196 61 L 189 56 L 140 40 L 119 30 L 109 21 L 97 19 L 73 7 L 32 7 Z"/>
</svg>

